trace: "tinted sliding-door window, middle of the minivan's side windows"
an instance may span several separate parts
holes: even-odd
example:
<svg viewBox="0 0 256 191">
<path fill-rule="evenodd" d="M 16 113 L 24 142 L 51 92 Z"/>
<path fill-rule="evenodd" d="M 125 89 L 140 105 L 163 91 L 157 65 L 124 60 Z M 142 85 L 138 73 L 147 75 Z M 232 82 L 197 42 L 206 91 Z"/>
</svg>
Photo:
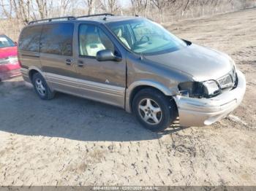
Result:
<svg viewBox="0 0 256 191">
<path fill-rule="evenodd" d="M 74 25 L 72 23 L 49 24 L 42 29 L 41 52 L 72 56 Z"/>
</svg>

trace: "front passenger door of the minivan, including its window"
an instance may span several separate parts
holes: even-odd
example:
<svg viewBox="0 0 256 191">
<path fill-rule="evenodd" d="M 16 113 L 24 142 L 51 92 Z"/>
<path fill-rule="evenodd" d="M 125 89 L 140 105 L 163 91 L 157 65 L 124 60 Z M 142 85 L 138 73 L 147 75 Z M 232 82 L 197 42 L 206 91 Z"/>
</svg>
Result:
<svg viewBox="0 0 256 191">
<path fill-rule="evenodd" d="M 104 28 L 91 23 L 80 23 L 77 31 L 75 65 L 81 90 L 94 100 L 124 107 L 125 58 L 121 61 L 97 61 L 96 55 L 100 50 L 111 50 L 119 57 L 122 55 Z"/>
</svg>

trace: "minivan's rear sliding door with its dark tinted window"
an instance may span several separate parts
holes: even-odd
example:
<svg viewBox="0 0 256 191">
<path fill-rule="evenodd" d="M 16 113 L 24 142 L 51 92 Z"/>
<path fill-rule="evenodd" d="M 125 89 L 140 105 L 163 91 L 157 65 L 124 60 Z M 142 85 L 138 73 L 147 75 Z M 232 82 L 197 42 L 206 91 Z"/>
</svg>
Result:
<svg viewBox="0 0 256 191">
<path fill-rule="evenodd" d="M 73 64 L 74 23 L 50 23 L 42 28 L 40 60 L 47 82 L 54 90 L 78 93 Z"/>
</svg>

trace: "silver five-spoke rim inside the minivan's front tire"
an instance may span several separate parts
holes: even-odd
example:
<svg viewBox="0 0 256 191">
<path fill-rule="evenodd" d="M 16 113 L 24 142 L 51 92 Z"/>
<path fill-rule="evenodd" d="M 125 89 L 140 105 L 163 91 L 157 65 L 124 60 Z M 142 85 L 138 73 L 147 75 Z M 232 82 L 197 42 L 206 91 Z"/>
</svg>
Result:
<svg viewBox="0 0 256 191">
<path fill-rule="evenodd" d="M 156 101 L 144 98 L 139 103 L 140 117 L 150 125 L 157 125 L 162 119 L 162 110 Z"/>
</svg>

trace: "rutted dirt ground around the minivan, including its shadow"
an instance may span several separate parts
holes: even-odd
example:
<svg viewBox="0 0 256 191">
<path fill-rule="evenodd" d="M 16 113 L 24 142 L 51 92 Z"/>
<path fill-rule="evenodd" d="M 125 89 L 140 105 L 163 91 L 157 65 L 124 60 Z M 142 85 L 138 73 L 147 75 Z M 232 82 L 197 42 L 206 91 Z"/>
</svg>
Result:
<svg viewBox="0 0 256 191">
<path fill-rule="evenodd" d="M 1 185 L 256 185 L 256 9 L 165 24 L 246 75 L 241 106 L 203 128 L 151 133 L 122 109 L 59 93 L 39 100 L 21 77 L 0 84 Z"/>
</svg>

